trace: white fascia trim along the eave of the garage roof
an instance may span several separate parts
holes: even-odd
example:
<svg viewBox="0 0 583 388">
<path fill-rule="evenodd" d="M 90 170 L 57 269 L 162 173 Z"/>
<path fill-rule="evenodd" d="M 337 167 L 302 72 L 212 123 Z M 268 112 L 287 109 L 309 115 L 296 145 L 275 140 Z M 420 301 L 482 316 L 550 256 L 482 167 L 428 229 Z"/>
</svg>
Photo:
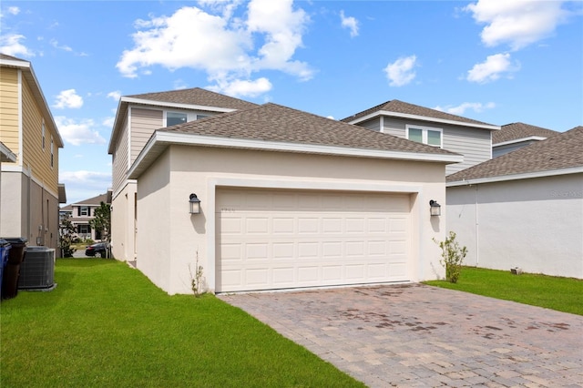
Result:
<svg viewBox="0 0 583 388">
<path fill-rule="evenodd" d="M 136 170 L 138 170 L 138 167 L 140 167 L 140 165 L 145 162 L 148 154 L 152 152 L 156 146 L 163 145 L 167 147 L 170 144 L 221 148 L 261 149 L 270 151 L 337 155 L 358 158 L 387 158 L 442 163 L 460 163 L 464 161 L 464 157 L 462 155 L 425 154 L 409 151 L 393 151 L 368 148 L 344 148 L 336 146 L 285 143 L 280 141 L 265 141 L 243 138 L 216 138 L 186 133 L 156 131 L 152 137 L 149 138 L 146 146 L 141 150 L 138 158 L 136 158 L 134 161 L 134 164 L 131 166 L 131 168 L 129 168 L 128 178 L 137 178 L 134 177 L 134 173 Z"/>
</svg>

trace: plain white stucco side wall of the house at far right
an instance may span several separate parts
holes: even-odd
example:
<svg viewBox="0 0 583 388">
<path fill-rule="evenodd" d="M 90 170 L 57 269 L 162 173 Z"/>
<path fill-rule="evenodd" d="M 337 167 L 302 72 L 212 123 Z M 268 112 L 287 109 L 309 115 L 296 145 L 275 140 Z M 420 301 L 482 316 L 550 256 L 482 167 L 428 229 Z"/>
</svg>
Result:
<svg viewBox="0 0 583 388">
<path fill-rule="evenodd" d="M 447 188 L 447 230 L 467 265 L 583 279 L 583 174 Z"/>
</svg>

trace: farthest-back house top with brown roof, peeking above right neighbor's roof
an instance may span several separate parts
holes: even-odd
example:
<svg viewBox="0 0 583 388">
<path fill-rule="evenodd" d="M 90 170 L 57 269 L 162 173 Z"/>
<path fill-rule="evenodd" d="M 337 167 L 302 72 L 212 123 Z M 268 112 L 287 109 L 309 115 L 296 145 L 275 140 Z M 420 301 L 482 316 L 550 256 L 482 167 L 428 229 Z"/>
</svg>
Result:
<svg viewBox="0 0 583 388">
<path fill-rule="evenodd" d="M 502 126 L 492 134 L 492 158 L 528 146 L 534 142 L 557 135 L 558 132 L 531 126 L 524 123 L 512 123 Z"/>
</svg>

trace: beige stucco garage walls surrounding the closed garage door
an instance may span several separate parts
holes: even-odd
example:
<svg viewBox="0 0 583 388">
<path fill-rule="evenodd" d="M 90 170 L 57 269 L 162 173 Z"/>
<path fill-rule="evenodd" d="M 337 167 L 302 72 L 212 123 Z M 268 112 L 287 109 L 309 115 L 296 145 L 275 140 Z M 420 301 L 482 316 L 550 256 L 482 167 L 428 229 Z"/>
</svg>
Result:
<svg viewBox="0 0 583 388">
<path fill-rule="evenodd" d="M 432 239 L 443 240 L 445 216 L 431 218 L 428 205 L 430 199 L 445 204 L 443 164 L 171 146 L 138 179 L 138 269 L 170 294 L 191 292 L 197 252 L 214 290 L 214 203 L 221 186 L 410 193 L 410 278 L 443 276 Z M 202 201 L 199 215 L 189 215 L 190 193 Z"/>
</svg>

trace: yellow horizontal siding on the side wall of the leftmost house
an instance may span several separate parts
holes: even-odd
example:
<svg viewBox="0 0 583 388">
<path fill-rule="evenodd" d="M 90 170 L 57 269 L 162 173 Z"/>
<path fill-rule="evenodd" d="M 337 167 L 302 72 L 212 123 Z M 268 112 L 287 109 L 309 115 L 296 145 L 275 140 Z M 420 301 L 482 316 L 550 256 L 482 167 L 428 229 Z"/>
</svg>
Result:
<svg viewBox="0 0 583 388">
<path fill-rule="evenodd" d="M 22 88 L 23 99 L 23 161 L 31 167 L 33 177 L 42 181 L 46 189 L 58 192 L 58 148 L 54 146 L 55 159 L 51 168 L 50 117 L 43 117 L 35 97 L 26 82 Z M 43 119 L 45 120 L 45 148 L 42 143 Z"/>
</svg>

